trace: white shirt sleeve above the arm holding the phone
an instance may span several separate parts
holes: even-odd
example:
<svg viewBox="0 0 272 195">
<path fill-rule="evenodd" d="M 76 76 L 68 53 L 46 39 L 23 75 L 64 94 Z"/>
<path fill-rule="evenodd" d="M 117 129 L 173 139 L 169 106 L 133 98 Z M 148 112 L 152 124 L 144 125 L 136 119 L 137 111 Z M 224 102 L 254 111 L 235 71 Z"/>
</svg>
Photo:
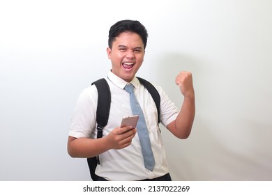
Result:
<svg viewBox="0 0 272 195">
<path fill-rule="evenodd" d="M 92 137 L 96 127 L 97 98 L 96 86 L 84 89 L 79 95 L 70 122 L 69 136 Z"/>
</svg>

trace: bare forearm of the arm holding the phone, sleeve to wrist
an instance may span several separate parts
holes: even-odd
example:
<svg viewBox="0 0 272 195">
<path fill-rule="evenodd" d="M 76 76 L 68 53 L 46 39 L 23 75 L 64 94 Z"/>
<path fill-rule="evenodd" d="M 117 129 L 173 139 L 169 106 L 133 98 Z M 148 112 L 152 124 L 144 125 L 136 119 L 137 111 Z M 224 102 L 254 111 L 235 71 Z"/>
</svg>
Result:
<svg viewBox="0 0 272 195">
<path fill-rule="evenodd" d="M 71 157 L 94 157 L 109 150 L 106 138 L 89 139 L 86 137 L 68 139 L 68 154 Z"/>
</svg>

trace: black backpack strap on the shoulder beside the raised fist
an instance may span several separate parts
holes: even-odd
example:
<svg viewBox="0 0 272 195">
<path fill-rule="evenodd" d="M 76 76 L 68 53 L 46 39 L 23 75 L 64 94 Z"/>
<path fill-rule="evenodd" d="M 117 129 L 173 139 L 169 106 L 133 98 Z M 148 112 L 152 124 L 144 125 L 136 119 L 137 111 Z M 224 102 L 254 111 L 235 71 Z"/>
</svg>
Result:
<svg viewBox="0 0 272 195">
<path fill-rule="evenodd" d="M 158 93 L 157 89 L 153 84 L 141 77 L 137 77 L 139 82 L 149 91 L 150 95 L 152 96 L 158 111 L 158 124 L 160 123 L 160 94 Z"/>
</svg>

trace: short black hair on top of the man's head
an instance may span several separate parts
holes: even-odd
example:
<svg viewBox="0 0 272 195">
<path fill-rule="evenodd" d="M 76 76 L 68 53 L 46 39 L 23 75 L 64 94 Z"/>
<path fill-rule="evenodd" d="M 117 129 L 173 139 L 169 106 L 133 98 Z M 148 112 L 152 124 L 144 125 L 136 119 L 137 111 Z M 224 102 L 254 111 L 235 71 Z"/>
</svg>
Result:
<svg viewBox="0 0 272 195">
<path fill-rule="evenodd" d="M 146 48 L 148 33 L 146 28 L 137 20 L 121 20 L 112 25 L 109 29 L 109 48 L 112 49 L 112 42 L 123 32 L 137 33 L 144 42 L 144 49 Z"/>
</svg>

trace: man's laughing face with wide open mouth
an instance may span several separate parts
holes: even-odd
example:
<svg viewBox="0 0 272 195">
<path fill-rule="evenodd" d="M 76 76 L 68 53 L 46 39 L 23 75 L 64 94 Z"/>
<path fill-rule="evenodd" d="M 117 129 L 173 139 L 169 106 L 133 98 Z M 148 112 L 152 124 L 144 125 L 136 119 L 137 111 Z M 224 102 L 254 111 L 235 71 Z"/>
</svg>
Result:
<svg viewBox="0 0 272 195">
<path fill-rule="evenodd" d="M 144 61 L 144 43 L 137 33 L 121 33 L 107 48 L 107 56 L 112 61 L 112 72 L 130 82 Z"/>
</svg>

